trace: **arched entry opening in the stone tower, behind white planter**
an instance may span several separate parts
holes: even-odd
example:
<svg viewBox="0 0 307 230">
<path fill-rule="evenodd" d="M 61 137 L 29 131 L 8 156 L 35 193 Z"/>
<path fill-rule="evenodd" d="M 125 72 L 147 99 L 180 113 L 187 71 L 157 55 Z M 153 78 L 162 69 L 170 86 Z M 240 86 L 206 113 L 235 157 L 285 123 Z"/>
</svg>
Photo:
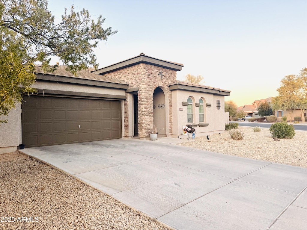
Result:
<svg viewBox="0 0 307 230">
<path fill-rule="evenodd" d="M 153 125 L 157 125 L 159 134 L 166 134 L 165 93 L 160 87 L 153 91 Z"/>
</svg>

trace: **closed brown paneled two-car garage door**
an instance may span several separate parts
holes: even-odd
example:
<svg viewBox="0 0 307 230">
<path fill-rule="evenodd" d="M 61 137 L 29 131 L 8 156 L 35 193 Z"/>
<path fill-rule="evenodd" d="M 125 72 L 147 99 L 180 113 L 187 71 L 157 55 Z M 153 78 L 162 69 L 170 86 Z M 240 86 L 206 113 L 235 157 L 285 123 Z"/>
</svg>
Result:
<svg viewBox="0 0 307 230">
<path fill-rule="evenodd" d="M 22 103 L 25 147 L 122 137 L 121 102 L 30 96 Z"/>
</svg>

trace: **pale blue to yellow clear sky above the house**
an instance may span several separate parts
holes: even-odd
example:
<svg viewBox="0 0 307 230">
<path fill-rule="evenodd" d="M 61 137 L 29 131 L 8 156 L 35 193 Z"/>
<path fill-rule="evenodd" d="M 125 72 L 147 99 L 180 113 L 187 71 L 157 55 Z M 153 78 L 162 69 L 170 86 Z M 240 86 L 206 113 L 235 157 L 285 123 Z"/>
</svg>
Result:
<svg viewBox="0 0 307 230">
<path fill-rule="evenodd" d="M 50 0 L 48 9 L 60 18 L 72 4 L 119 31 L 99 42 L 100 68 L 141 52 L 183 63 L 178 80 L 202 75 L 237 106 L 277 96 L 284 76 L 307 67 L 307 1 Z"/>
</svg>

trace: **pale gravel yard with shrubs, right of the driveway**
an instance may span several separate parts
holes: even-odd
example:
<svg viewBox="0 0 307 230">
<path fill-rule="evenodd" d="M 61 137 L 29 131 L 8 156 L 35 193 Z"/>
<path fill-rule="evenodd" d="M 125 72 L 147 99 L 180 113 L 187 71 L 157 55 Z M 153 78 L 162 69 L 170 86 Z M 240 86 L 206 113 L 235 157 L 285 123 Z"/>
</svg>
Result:
<svg viewBox="0 0 307 230">
<path fill-rule="evenodd" d="M 307 167 L 307 132 L 295 131 L 293 139 L 274 141 L 268 128 L 254 132 L 251 127 L 239 126 L 243 130 L 242 140 L 232 140 L 229 131 L 221 134 L 197 136 L 194 141 L 180 145 L 203 150 L 241 156 L 251 159 Z"/>
</svg>

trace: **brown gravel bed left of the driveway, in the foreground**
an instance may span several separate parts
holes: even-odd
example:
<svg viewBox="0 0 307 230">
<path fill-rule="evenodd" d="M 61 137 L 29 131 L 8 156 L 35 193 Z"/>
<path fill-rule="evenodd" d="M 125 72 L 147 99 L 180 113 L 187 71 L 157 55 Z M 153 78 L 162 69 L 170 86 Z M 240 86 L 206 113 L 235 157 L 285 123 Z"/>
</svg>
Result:
<svg viewBox="0 0 307 230">
<path fill-rule="evenodd" d="M 0 172 L 2 230 L 170 229 L 19 152 L 0 155 Z"/>
</svg>

